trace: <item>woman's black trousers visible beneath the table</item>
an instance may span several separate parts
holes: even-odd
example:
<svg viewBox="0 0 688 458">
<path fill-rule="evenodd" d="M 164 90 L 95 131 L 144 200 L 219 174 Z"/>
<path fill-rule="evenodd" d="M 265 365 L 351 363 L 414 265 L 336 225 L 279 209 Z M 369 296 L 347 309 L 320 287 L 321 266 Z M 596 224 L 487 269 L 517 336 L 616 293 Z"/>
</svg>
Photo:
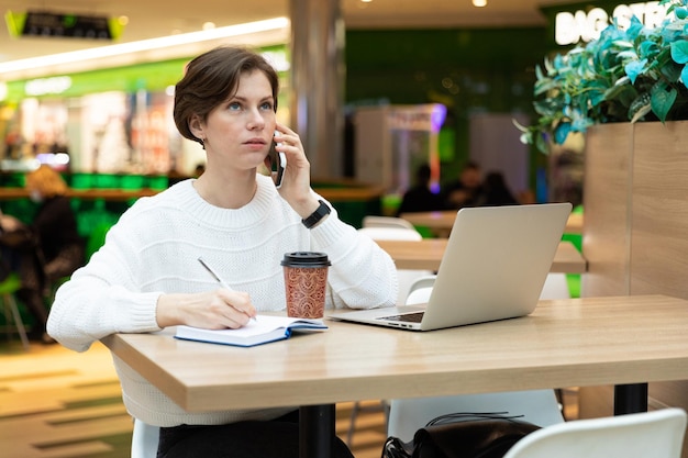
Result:
<svg viewBox="0 0 688 458">
<path fill-rule="evenodd" d="M 271 421 L 218 426 L 160 428 L 157 458 L 298 458 L 299 412 Z M 353 458 L 346 444 L 334 442 L 333 458 Z"/>
</svg>

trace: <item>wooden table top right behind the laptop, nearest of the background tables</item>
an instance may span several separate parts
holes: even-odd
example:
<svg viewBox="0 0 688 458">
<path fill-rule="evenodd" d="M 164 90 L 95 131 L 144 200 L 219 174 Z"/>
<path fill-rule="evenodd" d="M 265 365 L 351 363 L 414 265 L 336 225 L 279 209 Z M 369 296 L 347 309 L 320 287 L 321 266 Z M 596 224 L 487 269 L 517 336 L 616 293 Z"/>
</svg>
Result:
<svg viewBox="0 0 688 458">
<path fill-rule="evenodd" d="M 392 257 L 397 268 L 412 270 L 440 269 L 447 238 L 423 238 L 422 241 L 376 241 Z M 588 262 L 570 242 L 561 242 L 551 272 L 585 273 Z"/>
</svg>

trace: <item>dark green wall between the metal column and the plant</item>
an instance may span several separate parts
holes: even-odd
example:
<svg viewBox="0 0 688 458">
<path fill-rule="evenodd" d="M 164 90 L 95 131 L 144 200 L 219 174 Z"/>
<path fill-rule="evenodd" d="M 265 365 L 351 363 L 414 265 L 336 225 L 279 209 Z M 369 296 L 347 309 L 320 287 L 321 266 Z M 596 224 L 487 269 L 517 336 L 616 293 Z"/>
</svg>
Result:
<svg viewBox="0 0 688 458">
<path fill-rule="evenodd" d="M 533 114 L 535 66 L 551 51 L 545 27 L 376 30 L 346 33 L 346 102 L 444 103 L 455 132 L 455 177 L 468 156 L 475 112 Z M 533 153 L 535 168 L 544 164 Z M 534 185 L 533 185 L 534 187 Z"/>
</svg>

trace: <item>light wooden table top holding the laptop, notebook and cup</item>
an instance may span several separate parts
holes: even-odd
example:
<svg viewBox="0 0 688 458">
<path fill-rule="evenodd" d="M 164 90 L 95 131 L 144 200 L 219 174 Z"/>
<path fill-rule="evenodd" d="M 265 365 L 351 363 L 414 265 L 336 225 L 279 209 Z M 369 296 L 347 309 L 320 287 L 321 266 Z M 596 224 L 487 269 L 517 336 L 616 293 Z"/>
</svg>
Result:
<svg viewBox="0 0 688 458">
<path fill-rule="evenodd" d="M 524 317 L 425 333 L 328 321 L 253 348 L 171 329 L 103 343 L 188 411 L 688 379 L 688 301 L 541 301 Z"/>
</svg>

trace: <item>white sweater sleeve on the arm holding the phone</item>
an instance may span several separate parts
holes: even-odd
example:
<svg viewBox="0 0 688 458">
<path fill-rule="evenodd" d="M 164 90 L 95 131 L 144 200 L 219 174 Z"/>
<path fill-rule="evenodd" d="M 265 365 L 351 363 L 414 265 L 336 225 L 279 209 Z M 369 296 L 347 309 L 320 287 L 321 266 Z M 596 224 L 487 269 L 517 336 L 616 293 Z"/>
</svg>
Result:
<svg viewBox="0 0 688 458">
<path fill-rule="evenodd" d="M 332 208 L 332 205 L 330 204 Z M 333 306 L 392 306 L 399 290 L 393 260 L 370 237 L 332 214 L 311 231 L 314 250 L 328 253 Z"/>
</svg>

